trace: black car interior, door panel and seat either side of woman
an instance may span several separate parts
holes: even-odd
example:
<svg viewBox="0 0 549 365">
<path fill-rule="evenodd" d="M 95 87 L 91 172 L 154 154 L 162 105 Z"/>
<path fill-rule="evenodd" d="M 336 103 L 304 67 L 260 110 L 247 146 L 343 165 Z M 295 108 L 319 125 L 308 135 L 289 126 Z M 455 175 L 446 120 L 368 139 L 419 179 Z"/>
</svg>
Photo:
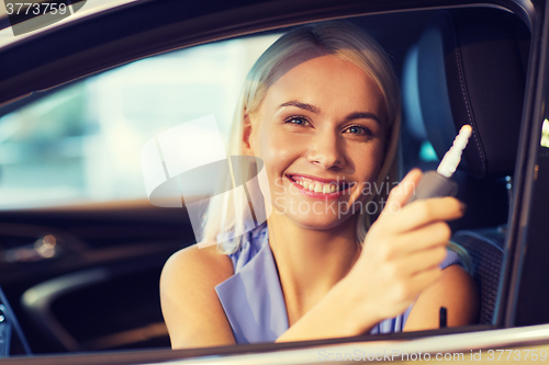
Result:
<svg viewBox="0 0 549 365">
<path fill-rule="evenodd" d="M 401 78 L 405 171 L 436 169 L 437 160 L 426 160 L 421 149 L 430 144 L 439 160 L 462 125 L 473 127 L 453 178 L 468 209 L 450 226 L 452 241 L 472 261 L 479 323 L 495 326 L 530 31 L 518 16 L 492 8 L 351 21 L 388 50 Z M 22 107 L 25 99 L 19 103 Z M 0 106 L 0 116 L 12 110 Z M 10 301 L 33 353 L 170 345 L 158 280 L 168 256 L 194 237 L 184 209 L 147 203 L 0 210 L 1 301 Z M 5 260 L 8 252 L 47 235 L 58 238 L 55 260 Z M 26 352 L 24 340 L 12 343 L 12 354 Z"/>
</svg>

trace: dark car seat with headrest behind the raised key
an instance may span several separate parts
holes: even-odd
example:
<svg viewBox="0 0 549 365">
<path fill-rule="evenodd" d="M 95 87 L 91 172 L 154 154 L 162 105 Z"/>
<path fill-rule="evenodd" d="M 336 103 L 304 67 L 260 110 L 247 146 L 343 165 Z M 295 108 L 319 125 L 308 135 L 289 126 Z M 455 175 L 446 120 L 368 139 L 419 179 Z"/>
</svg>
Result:
<svg viewBox="0 0 549 365">
<path fill-rule="evenodd" d="M 529 31 L 512 13 L 446 10 L 433 16 L 403 71 L 404 124 L 416 138 L 430 141 L 438 158 L 462 125 L 473 128 L 461 172 L 455 174 L 458 198 L 468 209 L 450 227 L 452 242 L 467 249 L 472 261 L 482 324 L 495 324 L 505 242 L 500 225 L 511 203 L 528 49 Z"/>
</svg>

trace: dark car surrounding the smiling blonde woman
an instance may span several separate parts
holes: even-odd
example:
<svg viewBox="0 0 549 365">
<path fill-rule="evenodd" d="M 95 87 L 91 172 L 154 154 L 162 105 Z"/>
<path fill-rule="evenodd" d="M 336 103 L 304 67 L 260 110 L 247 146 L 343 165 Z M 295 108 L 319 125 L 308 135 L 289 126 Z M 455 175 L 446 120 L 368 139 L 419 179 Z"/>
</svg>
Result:
<svg viewBox="0 0 549 365">
<path fill-rule="evenodd" d="M 3 362 L 547 360 L 545 1 L 87 0 L 63 19 L 46 18 L 52 8 L 10 18 L 12 3 L 0 15 Z M 468 210 L 450 227 L 471 258 L 478 324 L 172 351 L 158 281 L 197 242 L 186 203 L 204 184 L 175 204 L 153 199 L 142 150 L 212 114 L 226 144 L 257 57 L 288 30 L 335 19 L 363 27 L 393 61 L 404 171 L 436 169 L 459 126 L 474 127 L 453 178 Z M 200 142 L 212 127 L 192 133 Z"/>
</svg>

